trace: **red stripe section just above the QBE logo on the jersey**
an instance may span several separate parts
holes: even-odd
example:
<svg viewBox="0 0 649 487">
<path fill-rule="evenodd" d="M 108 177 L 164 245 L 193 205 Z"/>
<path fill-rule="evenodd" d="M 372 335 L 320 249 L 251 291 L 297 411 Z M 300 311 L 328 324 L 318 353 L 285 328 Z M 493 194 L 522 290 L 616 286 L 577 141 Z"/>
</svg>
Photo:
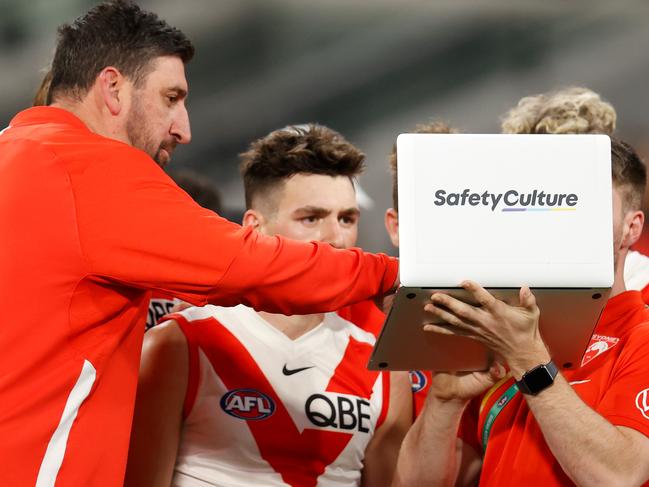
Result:
<svg viewBox="0 0 649 487">
<path fill-rule="evenodd" d="M 369 343 L 359 342 L 350 336 L 345 354 L 329 381 L 327 392 L 369 399 L 379 374 L 378 371 L 367 370 L 371 353 L 372 346 Z"/>
</svg>

